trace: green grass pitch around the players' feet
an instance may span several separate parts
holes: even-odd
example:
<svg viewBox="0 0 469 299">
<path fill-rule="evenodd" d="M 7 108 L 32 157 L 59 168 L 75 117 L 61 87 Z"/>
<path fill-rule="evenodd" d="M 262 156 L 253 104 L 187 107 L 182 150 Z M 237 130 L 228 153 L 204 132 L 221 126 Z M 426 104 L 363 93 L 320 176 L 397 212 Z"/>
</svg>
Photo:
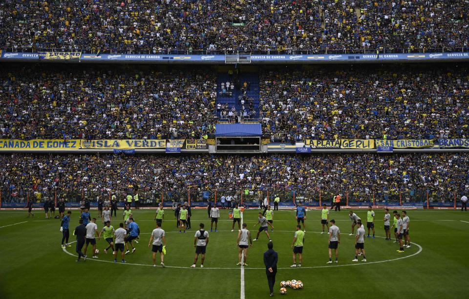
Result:
<svg viewBox="0 0 469 299">
<path fill-rule="evenodd" d="M 118 212 L 122 212 L 119 210 Z M 253 238 L 256 234 L 257 210 L 244 213 Z M 348 212 L 331 212 L 330 218 L 339 220 L 341 244 L 338 265 L 326 265 L 328 235 L 321 235 L 320 212 L 309 211 L 303 253 L 303 268 L 290 269 L 291 243 L 296 226 L 293 211 L 279 211 L 274 215 L 274 232 L 270 232 L 274 249 L 278 252 L 278 283 L 281 280 L 300 279 L 304 289 L 288 289 L 282 298 L 466 298 L 465 278 L 469 275 L 467 248 L 469 245 L 469 214 L 460 211 L 409 210 L 413 245 L 404 254 L 398 254 L 398 245 L 385 241 L 383 214 L 376 212 L 376 239 L 365 239 L 367 263 L 353 263 L 355 237 L 348 236 L 351 222 Z M 78 223 L 78 211 L 72 211 L 71 227 Z M 230 232 L 228 211 L 222 211 L 217 233 L 210 233 L 204 269 L 192 269 L 193 235 L 199 222 L 210 230 L 206 210 L 193 210 L 192 230 L 179 234 L 172 210 L 166 210 L 167 268 L 153 268 L 148 248 L 149 234 L 154 228 L 154 212 L 134 211 L 141 229 L 140 243 L 134 254 L 126 257 L 128 264 L 114 264 L 110 253 L 104 254 L 105 240 L 98 242 L 99 260 L 77 263 L 74 257 L 60 247 L 62 234 L 59 219 L 43 219 L 36 211 L 34 219 L 25 218 L 27 212 L 1 211 L 0 237 L 0 298 L 240 298 L 240 268 L 237 262 L 237 231 Z M 97 211 L 92 211 L 92 217 Z M 366 219 L 366 212 L 358 215 Z M 120 213 L 118 215 L 119 220 Z M 419 221 L 416 221 L 419 220 Z M 448 220 L 448 221 L 444 221 Z M 113 221 L 116 226 L 117 221 Z M 102 223 L 98 219 L 98 227 Z M 72 229 L 71 229 L 72 230 Z M 71 240 L 74 240 L 71 237 Z M 261 235 L 248 252 L 245 268 L 245 297 L 267 298 L 268 286 L 262 254 L 267 249 L 267 238 Z M 74 253 L 74 246 L 67 247 Z M 90 252 L 90 251 L 88 251 Z M 416 255 L 414 255 L 416 254 Z M 413 256 L 411 256 L 413 255 Z M 405 259 L 397 259 L 408 257 Z M 397 260 L 392 260 L 397 259 Z M 141 264 L 141 265 L 136 265 Z M 199 267 L 199 262 L 197 267 Z M 353 264 L 353 265 L 351 265 Z M 171 268 L 175 266 L 178 268 Z M 179 268 L 182 267 L 182 268 Z M 217 268 L 217 269 L 213 269 Z M 222 269 L 219 269 L 222 268 Z M 122 295 L 119 295 L 122 294 Z"/>
</svg>

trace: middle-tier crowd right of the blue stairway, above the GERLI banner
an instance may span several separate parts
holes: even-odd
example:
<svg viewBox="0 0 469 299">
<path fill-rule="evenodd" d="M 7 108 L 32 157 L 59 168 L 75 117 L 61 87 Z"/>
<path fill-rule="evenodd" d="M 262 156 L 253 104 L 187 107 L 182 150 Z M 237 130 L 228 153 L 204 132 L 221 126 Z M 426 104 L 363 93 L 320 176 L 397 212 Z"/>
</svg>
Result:
<svg viewBox="0 0 469 299">
<path fill-rule="evenodd" d="M 466 67 L 287 68 L 261 72 L 259 81 L 272 141 L 469 136 Z"/>
</svg>

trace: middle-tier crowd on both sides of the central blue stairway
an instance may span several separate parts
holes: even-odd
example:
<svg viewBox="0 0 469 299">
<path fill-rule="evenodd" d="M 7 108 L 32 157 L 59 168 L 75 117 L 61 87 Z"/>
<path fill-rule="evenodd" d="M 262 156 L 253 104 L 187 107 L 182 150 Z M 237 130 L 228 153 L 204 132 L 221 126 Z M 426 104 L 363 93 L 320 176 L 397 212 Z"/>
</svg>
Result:
<svg viewBox="0 0 469 299">
<path fill-rule="evenodd" d="M 469 136 L 465 66 L 259 74 L 260 121 L 271 141 Z M 0 79 L 4 139 L 210 138 L 217 119 L 235 109 L 216 103 L 210 69 L 28 64 L 3 68 Z"/>
</svg>

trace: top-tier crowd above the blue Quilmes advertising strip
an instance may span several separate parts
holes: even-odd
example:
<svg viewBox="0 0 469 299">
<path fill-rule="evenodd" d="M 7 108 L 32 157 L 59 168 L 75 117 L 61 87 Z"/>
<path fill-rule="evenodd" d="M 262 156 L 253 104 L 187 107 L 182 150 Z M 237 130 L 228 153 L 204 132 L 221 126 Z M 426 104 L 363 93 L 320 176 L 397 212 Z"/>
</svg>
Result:
<svg viewBox="0 0 469 299">
<path fill-rule="evenodd" d="M 0 48 L 167 53 L 468 47 L 468 1 L 0 2 Z"/>
</svg>

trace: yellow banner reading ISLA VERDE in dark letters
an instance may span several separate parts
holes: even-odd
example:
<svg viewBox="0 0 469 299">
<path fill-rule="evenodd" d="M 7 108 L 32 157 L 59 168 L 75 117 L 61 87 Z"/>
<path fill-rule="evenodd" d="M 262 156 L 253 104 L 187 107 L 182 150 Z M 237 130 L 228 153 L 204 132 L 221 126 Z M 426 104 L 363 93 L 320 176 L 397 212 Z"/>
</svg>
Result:
<svg viewBox="0 0 469 299">
<path fill-rule="evenodd" d="M 154 149 L 166 148 L 166 139 L 81 140 L 82 149 Z"/>
</svg>

